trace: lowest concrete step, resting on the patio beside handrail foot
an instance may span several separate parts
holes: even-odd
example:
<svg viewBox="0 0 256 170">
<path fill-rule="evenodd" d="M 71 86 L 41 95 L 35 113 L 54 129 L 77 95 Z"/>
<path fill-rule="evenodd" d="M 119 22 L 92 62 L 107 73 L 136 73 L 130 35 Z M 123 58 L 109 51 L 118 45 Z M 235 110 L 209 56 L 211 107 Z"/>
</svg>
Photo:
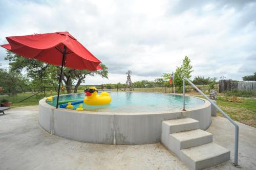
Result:
<svg viewBox="0 0 256 170">
<path fill-rule="evenodd" d="M 211 142 L 198 147 L 182 149 L 179 157 L 191 169 L 197 170 L 212 167 L 229 160 L 230 151 Z"/>
</svg>

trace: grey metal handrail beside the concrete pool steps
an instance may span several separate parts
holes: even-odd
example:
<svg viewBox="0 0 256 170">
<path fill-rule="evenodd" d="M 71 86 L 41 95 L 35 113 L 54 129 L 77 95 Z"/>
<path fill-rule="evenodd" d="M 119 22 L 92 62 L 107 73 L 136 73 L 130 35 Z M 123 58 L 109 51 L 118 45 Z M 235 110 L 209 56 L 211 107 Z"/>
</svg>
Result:
<svg viewBox="0 0 256 170">
<path fill-rule="evenodd" d="M 190 82 L 187 78 L 184 78 L 183 81 L 183 110 L 185 110 L 185 80 L 192 86 L 194 87 L 200 94 L 204 96 L 204 98 L 209 101 L 216 109 L 218 109 L 235 127 L 235 134 L 234 134 L 234 166 L 239 167 L 238 165 L 238 132 L 239 132 L 239 127 L 234 120 L 232 120 L 219 106 L 217 106 L 214 102 L 212 102 L 195 84 Z"/>
</svg>

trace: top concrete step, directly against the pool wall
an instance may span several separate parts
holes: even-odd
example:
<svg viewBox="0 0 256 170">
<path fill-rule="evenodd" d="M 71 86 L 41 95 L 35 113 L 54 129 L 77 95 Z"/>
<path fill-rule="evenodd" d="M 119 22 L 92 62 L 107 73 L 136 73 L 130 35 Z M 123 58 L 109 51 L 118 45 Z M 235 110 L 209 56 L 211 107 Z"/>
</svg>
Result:
<svg viewBox="0 0 256 170">
<path fill-rule="evenodd" d="M 199 122 L 198 120 L 195 120 L 193 118 L 164 120 L 162 122 L 161 142 L 165 145 L 165 147 L 169 148 L 170 133 L 189 131 L 189 130 L 194 130 L 198 128 L 199 128 Z"/>
</svg>

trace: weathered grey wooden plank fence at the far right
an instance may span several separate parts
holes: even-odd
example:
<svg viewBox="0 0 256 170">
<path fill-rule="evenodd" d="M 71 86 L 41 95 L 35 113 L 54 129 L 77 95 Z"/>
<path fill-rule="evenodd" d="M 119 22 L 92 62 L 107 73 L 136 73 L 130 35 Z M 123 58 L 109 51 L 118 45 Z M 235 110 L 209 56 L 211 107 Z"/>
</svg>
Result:
<svg viewBox="0 0 256 170">
<path fill-rule="evenodd" d="M 233 82 L 232 80 L 220 80 L 219 81 L 219 92 L 230 91 L 230 90 L 248 90 L 256 91 L 256 81 L 251 82 Z"/>
</svg>

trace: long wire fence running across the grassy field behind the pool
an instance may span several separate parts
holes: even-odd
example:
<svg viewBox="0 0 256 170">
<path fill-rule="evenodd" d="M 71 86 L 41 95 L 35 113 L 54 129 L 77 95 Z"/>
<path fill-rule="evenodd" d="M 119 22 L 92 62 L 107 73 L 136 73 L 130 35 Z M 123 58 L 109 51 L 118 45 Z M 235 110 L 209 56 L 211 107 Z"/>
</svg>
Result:
<svg viewBox="0 0 256 170">
<path fill-rule="evenodd" d="M 123 84 L 118 85 L 118 84 L 111 84 L 111 85 L 80 85 L 77 89 L 75 86 L 61 86 L 60 87 L 60 94 L 68 94 L 68 93 L 79 93 L 79 92 L 84 92 L 84 89 L 89 88 L 89 87 L 96 87 L 98 90 L 102 91 L 130 91 L 130 89 L 125 89 L 125 86 Z M 209 89 L 209 85 L 197 85 L 197 87 L 207 93 Z M 218 90 L 218 84 L 215 85 L 215 88 Z M 30 91 L 21 91 L 21 90 L 16 90 L 12 93 L 4 93 L 3 91 L 0 93 L 0 100 L 5 98 L 8 99 L 9 102 L 12 103 L 21 103 L 20 105 L 23 105 L 22 103 L 38 103 L 40 99 L 43 99 L 47 96 L 51 95 L 57 95 L 57 86 L 42 86 L 38 88 L 33 88 Z M 162 86 L 154 86 L 154 87 L 135 87 L 132 89 L 132 91 L 144 91 L 144 92 L 162 92 L 162 93 L 174 93 L 174 88 L 171 87 L 170 85 L 162 85 Z M 180 87 L 175 87 L 175 92 L 176 93 L 181 93 L 181 88 Z M 195 93 L 197 94 L 198 92 L 194 90 L 193 87 L 187 85 L 186 86 L 186 92 L 187 93 Z"/>
</svg>

